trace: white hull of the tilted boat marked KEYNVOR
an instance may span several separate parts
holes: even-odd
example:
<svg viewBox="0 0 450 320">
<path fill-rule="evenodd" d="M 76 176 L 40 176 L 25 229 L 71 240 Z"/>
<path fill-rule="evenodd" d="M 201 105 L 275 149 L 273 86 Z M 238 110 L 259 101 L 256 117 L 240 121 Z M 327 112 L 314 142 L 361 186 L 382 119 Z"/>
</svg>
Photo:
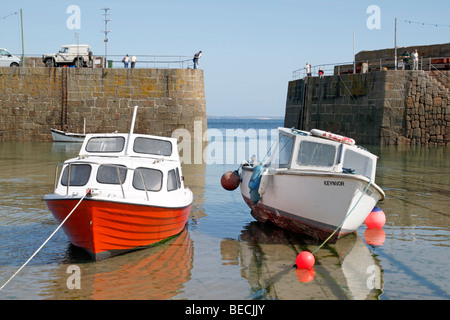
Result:
<svg viewBox="0 0 450 320">
<path fill-rule="evenodd" d="M 378 186 L 354 175 L 282 172 L 263 175 L 265 192 L 254 203 L 248 182 L 253 168 L 243 167 L 241 193 L 252 216 L 283 229 L 330 242 L 353 233 L 383 197 Z M 347 217 L 348 215 L 348 217 Z"/>
</svg>

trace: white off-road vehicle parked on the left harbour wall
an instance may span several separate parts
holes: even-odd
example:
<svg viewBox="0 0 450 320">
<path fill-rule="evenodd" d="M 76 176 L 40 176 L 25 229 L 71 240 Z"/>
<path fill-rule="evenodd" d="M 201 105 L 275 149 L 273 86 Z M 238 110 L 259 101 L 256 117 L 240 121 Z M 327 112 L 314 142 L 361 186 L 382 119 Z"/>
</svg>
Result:
<svg viewBox="0 0 450 320">
<path fill-rule="evenodd" d="M 62 46 L 57 54 L 45 54 L 42 62 L 46 67 L 58 67 L 62 65 L 75 65 L 86 67 L 92 61 L 91 47 L 87 44 L 69 44 Z"/>
</svg>

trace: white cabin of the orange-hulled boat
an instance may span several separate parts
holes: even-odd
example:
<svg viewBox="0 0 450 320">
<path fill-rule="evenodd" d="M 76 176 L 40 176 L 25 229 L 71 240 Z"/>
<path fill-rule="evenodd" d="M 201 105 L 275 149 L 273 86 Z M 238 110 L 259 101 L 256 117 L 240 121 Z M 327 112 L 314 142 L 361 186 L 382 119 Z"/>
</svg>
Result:
<svg viewBox="0 0 450 320">
<path fill-rule="evenodd" d="M 146 200 L 155 193 L 181 192 L 184 185 L 176 139 L 86 135 L 78 158 L 57 166 L 55 193 L 79 196 L 87 188 L 92 195 Z"/>
</svg>

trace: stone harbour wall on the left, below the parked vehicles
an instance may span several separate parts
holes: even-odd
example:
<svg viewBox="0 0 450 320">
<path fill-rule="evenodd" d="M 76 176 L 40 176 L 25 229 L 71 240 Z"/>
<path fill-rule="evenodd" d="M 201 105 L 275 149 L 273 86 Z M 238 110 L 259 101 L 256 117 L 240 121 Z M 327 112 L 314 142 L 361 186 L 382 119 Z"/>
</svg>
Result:
<svg viewBox="0 0 450 320">
<path fill-rule="evenodd" d="M 205 132 L 203 70 L 0 68 L 0 141 L 51 141 L 84 119 L 86 133 L 129 132 L 135 105 L 135 133 Z"/>
</svg>

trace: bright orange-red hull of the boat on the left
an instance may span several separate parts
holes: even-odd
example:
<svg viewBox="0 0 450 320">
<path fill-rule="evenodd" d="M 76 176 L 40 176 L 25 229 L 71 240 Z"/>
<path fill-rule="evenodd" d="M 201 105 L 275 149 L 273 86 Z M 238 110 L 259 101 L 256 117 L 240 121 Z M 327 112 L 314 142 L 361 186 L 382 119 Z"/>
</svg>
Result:
<svg viewBox="0 0 450 320">
<path fill-rule="evenodd" d="M 61 223 L 79 199 L 45 202 Z M 72 244 L 102 260 L 179 234 L 190 209 L 191 205 L 162 208 L 85 198 L 62 228 Z"/>
</svg>

